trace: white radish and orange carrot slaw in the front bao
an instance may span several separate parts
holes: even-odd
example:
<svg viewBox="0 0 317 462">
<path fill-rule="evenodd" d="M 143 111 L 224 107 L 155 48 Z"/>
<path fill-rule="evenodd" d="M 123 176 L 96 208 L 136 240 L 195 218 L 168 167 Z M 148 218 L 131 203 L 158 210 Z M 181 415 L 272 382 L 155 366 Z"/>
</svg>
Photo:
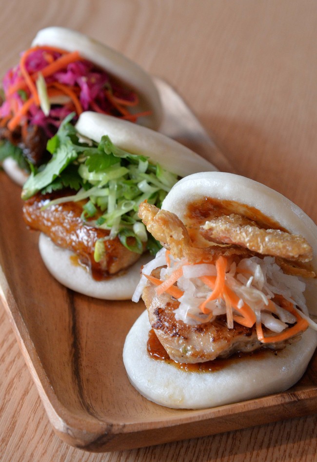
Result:
<svg viewBox="0 0 317 462">
<path fill-rule="evenodd" d="M 151 275 L 160 269 L 159 278 Z M 305 283 L 284 274 L 274 257 L 250 257 L 240 261 L 218 257 L 212 263 L 189 264 L 161 249 L 142 269 L 133 301 L 139 301 L 148 281 L 157 295 L 170 294 L 179 301 L 176 320 L 187 324 L 212 322 L 225 315 L 228 328 L 236 321 L 256 326 L 262 343 L 287 340 L 316 322 L 309 318 L 305 304 Z M 263 334 L 264 325 L 269 335 Z"/>
</svg>

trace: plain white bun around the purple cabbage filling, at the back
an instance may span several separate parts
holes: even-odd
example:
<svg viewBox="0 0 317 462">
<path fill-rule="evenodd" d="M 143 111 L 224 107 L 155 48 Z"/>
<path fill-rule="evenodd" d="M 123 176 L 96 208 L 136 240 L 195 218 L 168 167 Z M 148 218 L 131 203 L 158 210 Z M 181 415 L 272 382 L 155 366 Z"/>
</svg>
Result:
<svg viewBox="0 0 317 462">
<path fill-rule="evenodd" d="M 103 43 L 65 27 L 54 26 L 40 30 L 32 41 L 32 47 L 45 45 L 67 52 L 79 51 L 80 57 L 106 71 L 129 90 L 135 91 L 139 102 L 136 106 L 130 107 L 130 113 L 150 112 L 144 116 L 140 115 L 137 123 L 153 130 L 159 128 L 162 121 L 162 106 L 157 87 L 151 76 L 137 63 Z M 13 181 L 21 186 L 27 179 L 27 174 L 10 157 L 4 159 L 3 169 Z"/>
</svg>

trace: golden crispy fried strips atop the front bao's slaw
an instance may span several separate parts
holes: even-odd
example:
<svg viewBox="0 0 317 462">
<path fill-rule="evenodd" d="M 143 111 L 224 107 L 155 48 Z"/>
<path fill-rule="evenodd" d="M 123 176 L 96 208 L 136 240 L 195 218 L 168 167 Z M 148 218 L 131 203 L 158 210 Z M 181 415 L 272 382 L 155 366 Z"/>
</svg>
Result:
<svg viewBox="0 0 317 462">
<path fill-rule="evenodd" d="M 201 227 L 201 234 L 207 240 L 210 234 L 218 233 L 218 238 L 213 237 L 209 247 L 194 246 L 186 226 L 174 213 L 143 202 L 139 205 L 139 217 L 147 230 L 163 247 L 171 251 L 174 258 L 186 258 L 189 263 L 208 263 L 220 255 L 248 258 L 264 254 L 276 256 L 278 265 L 287 274 L 306 278 L 316 276 L 313 271 L 302 265 L 303 261 L 312 259 L 312 248 L 304 238 L 280 230 L 259 228 L 254 221 L 240 215 L 232 214 L 207 221 L 206 223 L 212 223 L 209 229 Z M 229 237 L 221 232 L 221 227 L 222 230 L 231 230 L 231 234 L 229 231 L 227 233 L 228 236 L 230 234 Z M 228 243 L 230 239 L 231 243 Z M 215 242 L 216 240 L 220 243 Z M 297 254 L 300 254 L 299 257 L 296 257 Z"/>
</svg>

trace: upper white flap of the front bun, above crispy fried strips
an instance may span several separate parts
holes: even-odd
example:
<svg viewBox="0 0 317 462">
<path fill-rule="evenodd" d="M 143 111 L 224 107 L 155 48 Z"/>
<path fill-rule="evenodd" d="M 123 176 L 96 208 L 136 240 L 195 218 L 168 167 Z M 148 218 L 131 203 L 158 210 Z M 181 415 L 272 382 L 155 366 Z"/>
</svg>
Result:
<svg viewBox="0 0 317 462">
<path fill-rule="evenodd" d="M 236 201 L 255 207 L 292 234 L 300 234 L 313 247 L 312 265 L 317 268 L 317 226 L 295 203 L 257 181 L 224 172 L 201 172 L 187 176 L 171 189 L 162 208 L 184 219 L 187 204 L 204 197 Z M 306 284 L 305 298 L 311 314 L 317 315 L 317 279 Z"/>
</svg>

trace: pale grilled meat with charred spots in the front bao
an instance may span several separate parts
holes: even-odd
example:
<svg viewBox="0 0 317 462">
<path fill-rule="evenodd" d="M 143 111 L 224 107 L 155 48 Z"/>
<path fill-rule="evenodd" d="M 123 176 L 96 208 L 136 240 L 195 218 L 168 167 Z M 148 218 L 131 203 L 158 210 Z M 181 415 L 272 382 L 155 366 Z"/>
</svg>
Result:
<svg viewBox="0 0 317 462">
<path fill-rule="evenodd" d="M 159 277 L 159 269 L 152 275 Z M 218 316 L 213 322 L 189 325 L 175 319 L 174 310 L 179 301 L 168 294 L 157 296 L 151 284 L 143 289 L 142 299 L 147 307 L 149 321 L 158 340 L 169 357 L 177 362 L 195 363 L 228 358 L 234 353 L 250 353 L 259 348 L 282 349 L 289 341 L 261 343 L 255 326 L 244 327 L 237 322 L 228 329 L 225 316 Z"/>
</svg>

